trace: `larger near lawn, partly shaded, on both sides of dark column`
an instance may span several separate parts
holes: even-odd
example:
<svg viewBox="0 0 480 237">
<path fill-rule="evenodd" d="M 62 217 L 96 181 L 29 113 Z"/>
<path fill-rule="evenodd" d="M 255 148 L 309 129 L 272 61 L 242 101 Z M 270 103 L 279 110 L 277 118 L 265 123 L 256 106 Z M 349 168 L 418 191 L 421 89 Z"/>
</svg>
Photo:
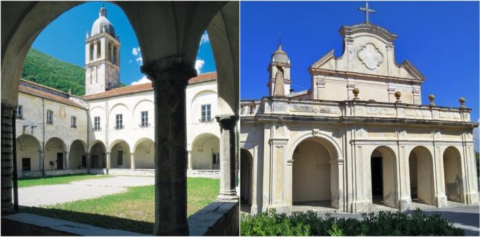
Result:
<svg viewBox="0 0 480 237">
<path fill-rule="evenodd" d="M 220 181 L 188 178 L 188 216 L 215 200 Z M 21 212 L 71 220 L 108 229 L 124 229 L 152 234 L 154 225 L 154 185 L 130 187 L 127 192 L 78 200 L 43 208 L 23 207 Z"/>
</svg>

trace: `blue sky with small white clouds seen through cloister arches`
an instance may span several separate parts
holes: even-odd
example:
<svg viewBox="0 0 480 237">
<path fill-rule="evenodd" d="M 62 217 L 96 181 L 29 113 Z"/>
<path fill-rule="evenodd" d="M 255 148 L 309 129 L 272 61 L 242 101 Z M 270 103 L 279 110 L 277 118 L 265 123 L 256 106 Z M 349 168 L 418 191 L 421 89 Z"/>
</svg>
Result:
<svg viewBox="0 0 480 237">
<path fill-rule="evenodd" d="M 120 35 L 120 81 L 130 85 L 144 76 L 140 72 L 141 52 L 134 50 L 134 48 L 138 49 L 139 43 L 132 25 L 121 8 L 112 3 L 101 1 L 83 3 L 63 13 L 39 34 L 32 48 L 83 67 L 86 32 L 92 30 L 93 22 L 99 17 L 99 8 L 103 3 L 108 11 L 108 20 Z M 208 36 L 205 34 L 202 39 L 203 43 L 200 45 L 197 56 L 197 67 L 201 73 L 213 72 L 215 65 Z M 202 66 L 199 67 L 199 65 Z"/>
</svg>

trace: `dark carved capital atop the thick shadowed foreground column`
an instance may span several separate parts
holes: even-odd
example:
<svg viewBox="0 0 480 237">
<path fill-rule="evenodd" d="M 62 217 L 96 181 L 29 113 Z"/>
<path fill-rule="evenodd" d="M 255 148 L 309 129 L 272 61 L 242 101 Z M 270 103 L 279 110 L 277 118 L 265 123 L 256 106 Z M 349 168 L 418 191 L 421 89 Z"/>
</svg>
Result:
<svg viewBox="0 0 480 237">
<path fill-rule="evenodd" d="M 188 79 L 197 76 L 197 70 L 182 56 L 169 56 L 143 63 L 141 72 L 147 74 L 153 87 L 157 83 L 178 82 L 188 84 Z"/>
</svg>

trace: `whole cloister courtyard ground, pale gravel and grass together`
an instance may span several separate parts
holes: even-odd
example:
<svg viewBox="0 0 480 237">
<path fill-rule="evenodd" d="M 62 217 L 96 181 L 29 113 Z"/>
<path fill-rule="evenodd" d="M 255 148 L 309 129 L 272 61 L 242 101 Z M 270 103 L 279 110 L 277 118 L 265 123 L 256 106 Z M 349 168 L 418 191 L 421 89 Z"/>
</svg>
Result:
<svg viewBox="0 0 480 237">
<path fill-rule="evenodd" d="M 19 181 L 20 212 L 151 234 L 154 177 L 74 175 Z M 219 179 L 188 178 L 188 216 L 217 198 Z"/>
</svg>

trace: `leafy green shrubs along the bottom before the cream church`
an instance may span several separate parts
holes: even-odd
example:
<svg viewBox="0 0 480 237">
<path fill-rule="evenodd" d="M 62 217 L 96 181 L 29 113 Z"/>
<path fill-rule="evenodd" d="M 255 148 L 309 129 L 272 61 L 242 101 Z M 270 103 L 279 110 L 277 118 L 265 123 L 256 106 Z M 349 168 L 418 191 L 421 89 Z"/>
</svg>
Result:
<svg viewBox="0 0 480 237">
<path fill-rule="evenodd" d="M 325 217 L 313 211 L 278 214 L 275 209 L 241 217 L 241 236 L 463 236 L 440 214 L 426 215 L 420 209 L 405 212 L 361 214 L 362 220 Z"/>
</svg>

